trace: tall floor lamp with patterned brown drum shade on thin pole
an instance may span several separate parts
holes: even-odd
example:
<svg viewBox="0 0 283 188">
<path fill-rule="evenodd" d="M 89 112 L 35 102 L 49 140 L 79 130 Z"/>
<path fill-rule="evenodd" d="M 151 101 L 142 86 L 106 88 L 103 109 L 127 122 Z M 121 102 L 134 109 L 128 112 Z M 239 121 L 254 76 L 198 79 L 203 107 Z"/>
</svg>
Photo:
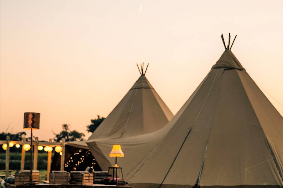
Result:
<svg viewBox="0 0 283 188">
<path fill-rule="evenodd" d="M 25 112 L 24 113 L 24 129 L 31 130 L 31 137 L 30 137 L 30 178 L 29 183 L 32 184 L 32 169 L 33 169 L 33 147 L 32 147 L 32 129 L 39 129 L 39 122 L 40 122 L 40 113 L 34 112 Z"/>
</svg>

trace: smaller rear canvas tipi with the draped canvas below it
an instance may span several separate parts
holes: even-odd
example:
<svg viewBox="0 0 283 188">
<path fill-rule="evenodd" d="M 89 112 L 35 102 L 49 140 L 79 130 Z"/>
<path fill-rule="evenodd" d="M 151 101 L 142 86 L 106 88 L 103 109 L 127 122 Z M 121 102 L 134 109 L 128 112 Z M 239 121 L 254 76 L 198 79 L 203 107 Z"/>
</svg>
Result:
<svg viewBox="0 0 283 188">
<path fill-rule="evenodd" d="M 141 76 L 86 142 L 102 170 L 113 166 L 109 157 L 114 144 L 120 144 L 125 157 L 119 159 L 124 174 L 138 164 L 160 140 L 147 135 L 162 130 L 173 117 L 141 70 Z M 140 146 L 146 146 L 141 147 Z"/>
</svg>

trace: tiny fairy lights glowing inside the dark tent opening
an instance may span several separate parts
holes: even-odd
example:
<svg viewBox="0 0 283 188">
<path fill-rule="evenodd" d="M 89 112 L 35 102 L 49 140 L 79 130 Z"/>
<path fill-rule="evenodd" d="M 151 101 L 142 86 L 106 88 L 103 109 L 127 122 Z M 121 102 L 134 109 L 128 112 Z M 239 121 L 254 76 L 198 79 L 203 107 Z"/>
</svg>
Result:
<svg viewBox="0 0 283 188">
<path fill-rule="evenodd" d="M 65 167 L 68 167 L 69 165 L 74 166 L 71 170 L 71 172 L 74 172 L 77 170 L 77 167 L 85 160 L 85 157 L 90 155 L 91 150 L 86 150 L 86 152 L 82 152 L 82 149 L 80 149 L 78 152 L 74 153 L 69 159 L 67 159 L 65 163 Z M 76 160 L 75 160 L 76 158 Z M 91 162 L 89 165 L 91 168 L 95 165 L 95 159 Z"/>
</svg>

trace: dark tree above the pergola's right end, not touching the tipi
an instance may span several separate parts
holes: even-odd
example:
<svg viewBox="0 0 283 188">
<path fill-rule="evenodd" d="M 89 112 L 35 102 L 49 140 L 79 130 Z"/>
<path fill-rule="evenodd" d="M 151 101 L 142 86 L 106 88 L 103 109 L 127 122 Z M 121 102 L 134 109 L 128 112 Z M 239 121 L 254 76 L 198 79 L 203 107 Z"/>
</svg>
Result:
<svg viewBox="0 0 283 188">
<path fill-rule="evenodd" d="M 54 132 L 53 134 L 55 135 L 53 139 L 55 142 L 60 142 L 62 138 L 65 138 L 66 141 L 80 141 L 83 140 L 83 137 L 85 136 L 82 132 L 76 130 L 71 131 L 67 124 L 62 125 L 62 131 L 59 134 Z"/>
</svg>

